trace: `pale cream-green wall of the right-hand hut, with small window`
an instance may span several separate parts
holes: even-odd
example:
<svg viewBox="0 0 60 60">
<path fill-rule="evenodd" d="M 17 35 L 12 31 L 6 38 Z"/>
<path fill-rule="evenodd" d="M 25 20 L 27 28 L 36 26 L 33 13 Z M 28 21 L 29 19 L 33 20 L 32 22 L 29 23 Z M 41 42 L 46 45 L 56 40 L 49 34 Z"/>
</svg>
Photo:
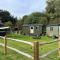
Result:
<svg viewBox="0 0 60 60">
<path fill-rule="evenodd" d="M 59 35 L 59 27 L 58 26 L 47 26 L 46 27 L 46 35 L 47 36 L 56 36 L 58 37 Z"/>
</svg>

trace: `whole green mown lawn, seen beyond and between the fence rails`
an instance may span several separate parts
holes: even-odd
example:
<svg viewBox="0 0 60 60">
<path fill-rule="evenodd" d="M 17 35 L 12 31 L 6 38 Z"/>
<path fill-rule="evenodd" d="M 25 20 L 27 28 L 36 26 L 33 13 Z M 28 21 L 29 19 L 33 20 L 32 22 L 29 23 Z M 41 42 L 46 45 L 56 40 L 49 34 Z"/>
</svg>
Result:
<svg viewBox="0 0 60 60">
<path fill-rule="evenodd" d="M 34 42 L 34 41 L 50 42 L 50 41 L 54 40 L 54 39 L 49 38 L 47 36 L 42 36 L 40 39 L 33 39 L 31 36 L 24 36 L 24 35 L 17 35 L 17 34 L 10 34 L 10 35 L 8 35 L 8 37 L 15 38 L 15 39 L 21 39 L 21 40 L 25 40 L 25 41 L 29 41 L 29 42 Z M 0 38 L 0 42 L 3 43 L 3 39 Z M 33 55 L 33 48 L 30 45 L 8 40 L 8 46 L 14 47 L 14 48 L 16 48 L 18 50 L 21 50 L 21 51 L 25 52 L 25 53 Z M 48 45 L 40 46 L 39 47 L 40 55 L 43 55 L 44 53 L 46 53 L 48 51 L 51 51 L 51 50 L 53 50 L 55 48 L 58 48 L 57 42 L 52 43 L 52 44 L 48 44 Z M 2 50 L 1 47 L 0 47 L 0 49 Z M 25 57 L 25 56 L 23 56 L 23 58 L 22 58 L 22 55 L 20 55 L 20 54 L 18 54 L 16 52 L 14 52 L 14 53 L 12 53 L 12 52 L 13 51 L 10 51 L 10 50 L 8 52 L 8 58 L 9 59 L 12 58 L 12 57 L 9 57 L 9 55 L 12 56 L 12 55 L 15 54 L 16 56 L 20 56 L 20 57 L 18 57 L 18 59 L 16 57 L 16 60 L 31 60 L 31 59 L 27 59 L 27 57 Z M 0 55 L 1 55 L 1 57 L 3 56 L 2 54 L 0 54 Z M 13 56 L 13 57 L 15 57 L 15 56 Z M 8 58 L 6 60 L 9 60 Z M 56 52 L 52 53 L 51 55 L 48 56 L 48 58 L 51 59 L 51 60 L 58 60 L 58 52 L 56 51 Z M 44 58 L 44 59 L 46 60 L 46 58 Z M 41 59 L 41 60 L 44 60 L 44 59 Z M 13 59 L 13 60 L 15 60 L 15 59 Z"/>
</svg>

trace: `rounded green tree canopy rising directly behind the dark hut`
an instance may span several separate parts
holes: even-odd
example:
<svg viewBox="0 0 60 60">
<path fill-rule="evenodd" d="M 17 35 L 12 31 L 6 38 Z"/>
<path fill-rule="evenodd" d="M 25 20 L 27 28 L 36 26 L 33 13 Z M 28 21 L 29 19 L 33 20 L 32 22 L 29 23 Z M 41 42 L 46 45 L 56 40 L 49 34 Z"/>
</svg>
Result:
<svg viewBox="0 0 60 60">
<path fill-rule="evenodd" d="M 25 20 L 24 24 L 39 24 L 45 21 L 45 14 L 40 12 L 34 12 L 30 14 Z M 45 23 L 43 23 L 45 24 Z"/>
</svg>

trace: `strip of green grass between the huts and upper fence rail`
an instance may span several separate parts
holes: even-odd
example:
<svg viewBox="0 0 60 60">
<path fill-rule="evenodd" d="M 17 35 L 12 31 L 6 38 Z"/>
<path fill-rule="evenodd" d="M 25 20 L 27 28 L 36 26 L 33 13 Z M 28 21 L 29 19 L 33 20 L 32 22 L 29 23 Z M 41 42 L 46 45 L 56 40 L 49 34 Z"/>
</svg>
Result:
<svg viewBox="0 0 60 60">
<path fill-rule="evenodd" d="M 52 41 L 52 38 L 49 38 L 47 36 L 41 37 L 41 39 L 33 39 L 31 36 L 25 36 L 25 35 L 18 35 L 18 34 L 9 34 L 8 37 L 15 38 L 15 39 L 21 39 L 29 42 L 39 41 L 39 42 L 49 42 Z"/>
</svg>

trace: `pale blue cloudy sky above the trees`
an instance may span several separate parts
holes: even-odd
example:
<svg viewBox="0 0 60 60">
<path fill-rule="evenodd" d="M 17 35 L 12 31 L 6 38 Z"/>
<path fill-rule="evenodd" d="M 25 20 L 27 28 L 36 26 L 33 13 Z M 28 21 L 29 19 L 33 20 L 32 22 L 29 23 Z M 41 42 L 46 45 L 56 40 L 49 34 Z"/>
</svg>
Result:
<svg viewBox="0 0 60 60">
<path fill-rule="evenodd" d="M 32 12 L 45 11 L 46 0 L 0 0 L 0 9 L 7 10 L 18 18 Z"/>
</svg>

